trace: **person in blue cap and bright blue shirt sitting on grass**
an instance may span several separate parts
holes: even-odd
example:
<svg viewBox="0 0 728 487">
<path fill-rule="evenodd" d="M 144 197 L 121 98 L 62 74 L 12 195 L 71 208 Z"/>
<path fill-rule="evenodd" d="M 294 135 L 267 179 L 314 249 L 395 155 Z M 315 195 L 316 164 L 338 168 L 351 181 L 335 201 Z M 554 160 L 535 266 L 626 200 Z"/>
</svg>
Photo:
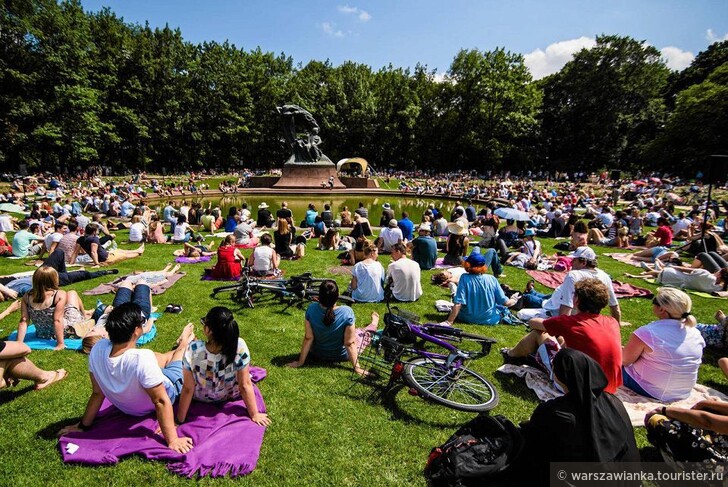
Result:
<svg viewBox="0 0 728 487">
<path fill-rule="evenodd" d="M 465 264 L 467 273 L 460 278 L 453 298 L 455 305 L 447 317 L 447 324 L 452 325 L 455 320 L 477 325 L 498 324 L 501 319 L 498 305 L 513 306 L 518 296 L 506 298 L 498 280 L 486 274 L 488 267 L 485 264 L 485 257 L 480 253 L 470 254 Z"/>
</svg>

